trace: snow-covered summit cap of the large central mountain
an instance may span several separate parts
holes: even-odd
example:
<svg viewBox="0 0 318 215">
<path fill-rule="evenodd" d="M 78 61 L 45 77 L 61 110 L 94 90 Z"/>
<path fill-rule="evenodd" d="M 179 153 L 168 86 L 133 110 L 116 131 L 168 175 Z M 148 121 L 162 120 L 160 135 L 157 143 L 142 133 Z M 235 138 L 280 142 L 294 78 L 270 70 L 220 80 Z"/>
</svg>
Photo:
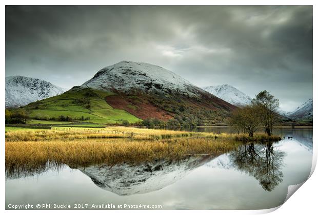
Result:
<svg viewBox="0 0 318 215">
<path fill-rule="evenodd" d="M 162 67 L 143 62 L 121 61 L 98 71 L 82 87 L 97 90 L 117 90 L 129 93 L 134 90 L 160 94 L 177 94 L 196 97 L 204 92 L 184 78 Z"/>
</svg>

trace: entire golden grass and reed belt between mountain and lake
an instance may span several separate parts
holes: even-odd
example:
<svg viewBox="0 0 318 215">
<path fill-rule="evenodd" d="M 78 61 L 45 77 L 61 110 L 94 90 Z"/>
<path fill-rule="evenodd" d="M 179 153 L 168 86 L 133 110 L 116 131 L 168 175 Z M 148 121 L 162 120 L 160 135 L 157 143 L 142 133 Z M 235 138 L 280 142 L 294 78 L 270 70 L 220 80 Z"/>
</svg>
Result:
<svg viewBox="0 0 318 215">
<path fill-rule="evenodd" d="M 255 134 L 195 133 L 132 127 L 19 130 L 6 132 L 6 173 L 25 175 L 67 164 L 143 162 L 185 155 L 220 155 L 238 141 L 278 140 Z M 49 165 L 49 166 L 48 166 Z"/>
</svg>

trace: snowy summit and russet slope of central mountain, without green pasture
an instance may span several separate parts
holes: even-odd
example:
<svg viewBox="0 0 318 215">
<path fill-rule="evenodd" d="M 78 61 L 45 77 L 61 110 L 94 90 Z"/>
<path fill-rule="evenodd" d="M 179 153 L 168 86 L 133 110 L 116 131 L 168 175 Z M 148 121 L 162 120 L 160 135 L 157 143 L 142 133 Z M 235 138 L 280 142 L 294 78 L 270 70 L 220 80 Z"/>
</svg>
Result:
<svg viewBox="0 0 318 215">
<path fill-rule="evenodd" d="M 110 106 L 140 119 L 166 121 L 187 113 L 200 117 L 202 122 L 221 122 L 236 108 L 181 76 L 144 62 L 121 61 L 105 67 L 70 92 L 87 88 L 112 92 L 105 98 Z"/>
</svg>

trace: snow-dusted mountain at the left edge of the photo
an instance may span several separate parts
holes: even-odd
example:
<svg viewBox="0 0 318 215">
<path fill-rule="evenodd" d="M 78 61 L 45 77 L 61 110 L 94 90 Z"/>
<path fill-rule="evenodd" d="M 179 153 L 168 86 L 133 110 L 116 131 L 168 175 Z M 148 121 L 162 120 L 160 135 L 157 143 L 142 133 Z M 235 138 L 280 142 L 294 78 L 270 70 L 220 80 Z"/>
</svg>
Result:
<svg viewBox="0 0 318 215">
<path fill-rule="evenodd" d="M 25 76 L 6 77 L 6 107 L 19 107 L 56 96 L 65 89 L 45 80 Z"/>
</svg>

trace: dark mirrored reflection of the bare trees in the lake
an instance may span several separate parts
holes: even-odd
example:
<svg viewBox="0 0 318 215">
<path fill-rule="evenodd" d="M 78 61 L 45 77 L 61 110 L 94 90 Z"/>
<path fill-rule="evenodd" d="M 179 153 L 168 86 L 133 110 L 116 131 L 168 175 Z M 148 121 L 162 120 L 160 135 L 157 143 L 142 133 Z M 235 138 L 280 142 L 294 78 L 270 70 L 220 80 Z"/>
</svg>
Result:
<svg viewBox="0 0 318 215">
<path fill-rule="evenodd" d="M 244 144 L 230 154 L 234 167 L 253 176 L 266 191 L 283 181 L 284 157 L 285 153 L 275 150 L 273 143 Z"/>
</svg>

